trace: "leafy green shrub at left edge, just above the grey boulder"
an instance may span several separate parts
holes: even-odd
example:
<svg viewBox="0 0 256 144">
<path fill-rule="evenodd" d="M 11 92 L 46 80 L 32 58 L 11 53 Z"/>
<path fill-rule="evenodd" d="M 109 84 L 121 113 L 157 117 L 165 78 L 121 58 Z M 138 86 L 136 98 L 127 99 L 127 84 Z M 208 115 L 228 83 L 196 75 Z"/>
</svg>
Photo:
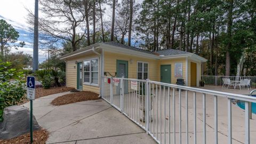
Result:
<svg viewBox="0 0 256 144">
<path fill-rule="evenodd" d="M 3 121 L 5 107 L 17 105 L 26 93 L 25 75 L 22 71 L 12 69 L 11 62 L 0 61 L 0 121 Z"/>
</svg>

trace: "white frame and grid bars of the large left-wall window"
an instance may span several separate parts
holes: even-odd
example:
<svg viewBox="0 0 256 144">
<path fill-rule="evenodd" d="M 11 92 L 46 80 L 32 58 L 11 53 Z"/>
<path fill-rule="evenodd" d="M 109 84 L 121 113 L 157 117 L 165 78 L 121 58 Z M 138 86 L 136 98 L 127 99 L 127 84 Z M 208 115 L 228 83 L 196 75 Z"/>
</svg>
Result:
<svg viewBox="0 0 256 144">
<path fill-rule="evenodd" d="M 92 60 L 98 60 L 98 84 L 95 84 L 95 83 L 92 83 L 92 72 L 96 72 L 96 71 L 92 71 L 91 69 L 91 64 L 92 64 Z M 89 72 L 89 75 L 90 75 L 90 82 L 84 82 L 84 62 L 85 61 L 90 61 L 90 71 L 87 71 Z M 84 85 L 92 85 L 92 86 L 98 86 L 99 87 L 99 71 L 100 71 L 100 61 L 99 61 L 99 58 L 92 58 L 92 59 L 86 59 L 86 60 L 83 60 L 83 84 Z"/>
</svg>

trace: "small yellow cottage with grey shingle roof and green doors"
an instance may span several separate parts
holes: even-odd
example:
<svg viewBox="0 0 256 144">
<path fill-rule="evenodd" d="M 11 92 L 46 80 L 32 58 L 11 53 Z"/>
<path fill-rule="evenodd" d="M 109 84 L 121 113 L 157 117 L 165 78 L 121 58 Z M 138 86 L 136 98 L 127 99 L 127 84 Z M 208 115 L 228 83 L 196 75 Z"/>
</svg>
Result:
<svg viewBox="0 0 256 144">
<path fill-rule="evenodd" d="M 183 78 L 187 86 L 198 86 L 201 63 L 206 59 L 173 49 L 149 52 L 120 43 L 96 43 L 63 55 L 66 84 L 78 90 L 100 93 L 100 77 L 126 77 L 175 84 Z"/>
</svg>

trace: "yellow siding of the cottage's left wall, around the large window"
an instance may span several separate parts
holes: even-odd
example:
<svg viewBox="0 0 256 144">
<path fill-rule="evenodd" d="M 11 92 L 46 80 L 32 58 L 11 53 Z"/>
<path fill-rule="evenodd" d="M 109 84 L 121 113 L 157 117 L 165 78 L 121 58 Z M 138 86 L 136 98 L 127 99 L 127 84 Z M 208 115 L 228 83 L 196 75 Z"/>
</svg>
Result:
<svg viewBox="0 0 256 144">
<path fill-rule="evenodd" d="M 67 75 L 67 86 L 68 87 L 74 87 L 75 89 L 77 88 L 77 65 L 75 64 L 75 62 L 76 61 L 83 62 L 83 60 L 93 59 L 93 58 L 99 58 L 99 55 L 90 54 L 90 55 L 84 55 L 81 57 L 76 57 L 73 59 L 67 59 L 66 75 Z M 100 58 L 99 58 L 99 65 L 100 65 Z M 100 79 L 100 67 L 99 67 L 99 79 Z M 99 81 L 99 86 L 100 86 L 100 81 Z M 83 84 L 83 91 L 92 91 L 95 93 L 100 93 L 99 86 L 91 86 L 91 85 Z"/>
</svg>

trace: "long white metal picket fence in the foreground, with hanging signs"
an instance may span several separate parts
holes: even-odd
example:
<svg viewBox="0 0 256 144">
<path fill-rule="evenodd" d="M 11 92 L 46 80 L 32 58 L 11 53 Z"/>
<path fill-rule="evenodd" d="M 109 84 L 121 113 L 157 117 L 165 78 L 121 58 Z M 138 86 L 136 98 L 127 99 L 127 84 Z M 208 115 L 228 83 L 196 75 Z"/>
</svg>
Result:
<svg viewBox="0 0 256 144">
<path fill-rule="evenodd" d="M 149 79 L 102 76 L 101 85 L 102 98 L 139 125 L 157 143 L 250 143 L 249 106 L 256 102 L 255 97 Z M 234 105 L 231 101 L 234 100 L 245 102 L 245 112 L 233 119 Z M 218 105 L 222 106 L 220 110 Z M 222 117 L 218 118 L 218 115 Z M 227 121 L 223 121 L 223 115 Z M 243 130 L 239 131 L 244 134 L 244 140 L 237 140 L 237 134 L 232 135 L 236 127 L 232 125 L 233 121 L 241 124 L 239 129 Z M 222 126 L 225 123 L 227 127 Z"/>
</svg>

